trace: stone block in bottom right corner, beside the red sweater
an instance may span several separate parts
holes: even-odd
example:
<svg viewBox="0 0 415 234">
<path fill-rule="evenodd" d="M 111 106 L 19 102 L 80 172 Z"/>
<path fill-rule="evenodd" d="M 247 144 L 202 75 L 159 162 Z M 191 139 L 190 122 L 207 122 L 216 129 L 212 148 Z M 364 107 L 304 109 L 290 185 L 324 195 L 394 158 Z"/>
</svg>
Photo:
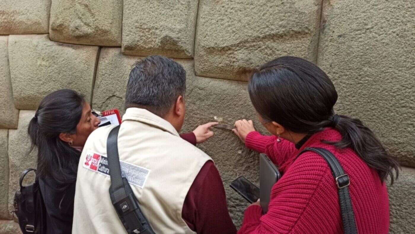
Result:
<svg viewBox="0 0 415 234">
<path fill-rule="evenodd" d="M 388 188 L 391 233 L 415 233 L 415 169 L 402 168 L 399 179 Z"/>
</svg>

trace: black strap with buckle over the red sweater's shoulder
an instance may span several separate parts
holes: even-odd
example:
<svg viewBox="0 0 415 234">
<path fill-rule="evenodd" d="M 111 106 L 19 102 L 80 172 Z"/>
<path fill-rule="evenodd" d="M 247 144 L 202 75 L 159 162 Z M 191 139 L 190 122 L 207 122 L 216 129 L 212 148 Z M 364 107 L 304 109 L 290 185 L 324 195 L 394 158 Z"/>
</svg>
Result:
<svg viewBox="0 0 415 234">
<path fill-rule="evenodd" d="M 350 200 L 348 188 L 350 184 L 349 176 L 344 173 L 342 166 L 339 161 L 337 161 L 337 158 L 327 149 L 307 147 L 301 151 L 300 154 L 305 151 L 313 151 L 319 154 L 329 165 L 334 180 L 336 181 L 337 193 L 339 194 L 340 212 L 342 213 L 344 234 L 357 234 L 356 221 L 354 220 L 352 201 Z M 300 154 L 298 154 L 298 156 L 300 156 Z"/>
</svg>

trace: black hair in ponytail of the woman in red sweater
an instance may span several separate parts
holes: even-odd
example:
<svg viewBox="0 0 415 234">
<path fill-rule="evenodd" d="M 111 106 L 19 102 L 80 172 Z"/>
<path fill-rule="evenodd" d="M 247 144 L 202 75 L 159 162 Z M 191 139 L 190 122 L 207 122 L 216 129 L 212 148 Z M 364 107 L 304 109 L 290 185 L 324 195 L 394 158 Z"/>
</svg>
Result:
<svg viewBox="0 0 415 234">
<path fill-rule="evenodd" d="M 324 143 L 339 149 L 350 147 L 382 181 L 390 176 L 393 184 L 398 178 L 398 162 L 374 133 L 359 119 L 334 114 L 337 91 L 326 73 L 313 63 L 292 56 L 270 61 L 252 73 L 248 91 L 265 121 L 275 121 L 296 133 L 313 134 L 334 127 L 342 140 Z"/>
</svg>

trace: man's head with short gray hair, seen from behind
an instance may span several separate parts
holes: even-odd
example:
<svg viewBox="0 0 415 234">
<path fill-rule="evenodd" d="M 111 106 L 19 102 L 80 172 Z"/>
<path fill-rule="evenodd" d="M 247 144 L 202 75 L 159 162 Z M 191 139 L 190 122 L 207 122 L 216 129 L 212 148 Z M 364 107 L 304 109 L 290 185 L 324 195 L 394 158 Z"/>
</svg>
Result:
<svg viewBox="0 0 415 234">
<path fill-rule="evenodd" d="M 179 63 L 164 56 L 147 56 L 129 74 L 125 108 L 143 108 L 163 118 L 185 93 L 186 71 Z"/>
</svg>

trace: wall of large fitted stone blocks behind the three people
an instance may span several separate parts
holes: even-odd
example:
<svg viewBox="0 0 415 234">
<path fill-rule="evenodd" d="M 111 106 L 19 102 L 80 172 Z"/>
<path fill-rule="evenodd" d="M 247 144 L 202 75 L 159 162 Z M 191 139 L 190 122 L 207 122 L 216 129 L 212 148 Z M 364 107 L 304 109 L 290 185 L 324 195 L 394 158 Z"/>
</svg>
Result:
<svg viewBox="0 0 415 234">
<path fill-rule="evenodd" d="M 337 113 L 364 121 L 403 169 L 389 187 L 391 233 L 415 232 L 415 5 L 390 0 L 3 0 L 0 2 L 0 232 L 18 233 L 12 198 L 35 167 L 27 124 L 41 98 L 71 88 L 118 108 L 139 56 L 162 54 L 187 71 L 183 132 L 253 119 L 248 74 L 283 55 L 316 63 L 339 93 Z M 71 44 L 69 44 L 71 43 Z M 108 47 L 112 46 L 112 47 Z M 198 147 L 215 160 L 237 226 L 248 205 L 229 188 L 258 183 L 258 154 L 232 132 Z"/>
</svg>

